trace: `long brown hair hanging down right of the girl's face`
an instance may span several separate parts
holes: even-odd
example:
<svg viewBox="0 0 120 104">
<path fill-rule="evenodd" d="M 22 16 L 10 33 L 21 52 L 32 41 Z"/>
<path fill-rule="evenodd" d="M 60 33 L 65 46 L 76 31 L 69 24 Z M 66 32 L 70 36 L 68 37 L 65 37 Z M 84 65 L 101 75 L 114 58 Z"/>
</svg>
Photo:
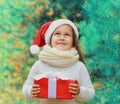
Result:
<svg viewBox="0 0 120 104">
<path fill-rule="evenodd" d="M 79 45 L 79 41 L 78 41 L 77 36 L 75 35 L 74 31 L 73 31 L 73 46 L 78 51 L 79 61 L 81 61 L 81 62 L 83 62 L 85 64 L 84 55 L 83 55 L 83 53 L 81 51 L 81 47 Z"/>
</svg>

